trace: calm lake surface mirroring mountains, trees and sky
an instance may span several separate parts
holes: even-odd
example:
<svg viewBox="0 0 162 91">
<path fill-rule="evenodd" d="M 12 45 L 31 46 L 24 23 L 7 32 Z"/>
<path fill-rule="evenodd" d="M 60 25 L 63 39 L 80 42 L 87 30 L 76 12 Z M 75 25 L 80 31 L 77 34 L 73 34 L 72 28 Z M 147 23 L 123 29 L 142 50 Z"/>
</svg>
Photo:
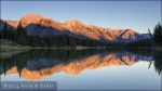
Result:
<svg viewBox="0 0 162 91">
<path fill-rule="evenodd" d="M 57 90 L 161 90 L 161 52 L 30 50 L 1 58 L 1 81 L 56 81 Z"/>
</svg>

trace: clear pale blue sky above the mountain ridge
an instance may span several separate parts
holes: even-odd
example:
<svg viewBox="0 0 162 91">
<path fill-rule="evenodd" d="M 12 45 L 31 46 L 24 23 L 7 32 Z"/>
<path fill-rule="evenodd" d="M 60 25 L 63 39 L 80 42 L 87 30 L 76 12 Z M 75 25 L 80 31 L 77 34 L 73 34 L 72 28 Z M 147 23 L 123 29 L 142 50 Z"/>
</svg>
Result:
<svg viewBox="0 0 162 91">
<path fill-rule="evenodd" d="M 161 1 L 1 1 L 2 20 L 19 20 L 28 13 L 62 23 L 79 20 L 87 25 L 148 32 L 161 23 Z"/>
</svg>

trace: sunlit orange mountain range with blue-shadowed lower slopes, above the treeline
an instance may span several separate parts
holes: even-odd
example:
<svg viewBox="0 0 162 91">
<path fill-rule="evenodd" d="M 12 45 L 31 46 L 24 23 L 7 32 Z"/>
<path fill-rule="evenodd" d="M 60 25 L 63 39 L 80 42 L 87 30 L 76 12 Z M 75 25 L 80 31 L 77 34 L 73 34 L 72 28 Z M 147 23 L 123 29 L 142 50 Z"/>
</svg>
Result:
<svg viewBox="0 0 162 91">
<path fill-rule="evenodd" d="M 77 20 L 58 23 L 41 15 L 28 14 L 23 16 L 19 21 L 22 22 L 23 27 L 26 28 L 28 35 L 58 36 L 66 34 L 103 42 L 130 42 L 150 38 L 148 34 L 139 34 L 132 29 L 102 28 L 94 25 L 85 25 Z M 8 21 L 6 23 L 16 27 L 19 21 Z"/>
</svg>

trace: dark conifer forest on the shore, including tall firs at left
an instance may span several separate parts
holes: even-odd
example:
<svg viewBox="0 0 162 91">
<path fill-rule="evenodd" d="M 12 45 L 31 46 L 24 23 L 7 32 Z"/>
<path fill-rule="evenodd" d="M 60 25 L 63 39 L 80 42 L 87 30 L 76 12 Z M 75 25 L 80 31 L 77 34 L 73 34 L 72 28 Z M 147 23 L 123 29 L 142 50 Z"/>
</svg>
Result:
<svg viewBox="0 0 162 91">
<path fill-rule="evenodd" d="M 5 23 L 4 26 L 2 27 L 2 30 L 0 30 L 0 38 L 10 39 L 16 41 L 19 44 L 30 46 L 30 47 L 107 46 L 104 42 L 95 41 L 92 39 L 82 39 L 82 38 L 72 37 L 68 35 L 48 36 L 48 37 L 27 35 L 27 31 L 25 30 L 25 28 L 23 28 L 21 22 L 15 30 L 12 30 L 12 28 L 9 29 Z"/>
</svg>

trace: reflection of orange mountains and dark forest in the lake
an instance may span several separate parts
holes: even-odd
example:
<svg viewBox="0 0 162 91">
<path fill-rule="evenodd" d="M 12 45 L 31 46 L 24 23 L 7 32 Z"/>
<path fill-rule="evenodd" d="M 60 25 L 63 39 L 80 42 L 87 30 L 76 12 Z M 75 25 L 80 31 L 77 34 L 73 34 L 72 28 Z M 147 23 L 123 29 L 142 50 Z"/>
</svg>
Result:
<svg viewBox="0 0 162 91">
<path fill-rule="evenodd" d="M 60 72 L 79 75 L 86 69 L 131 66 L 139 61 L 152 61 L 152 57 L 119 51 L 32 50 L 2 58 L 0 70 L 1 74 L 19 74 L 27 80 L 38 80 Z"/>
</svg>

